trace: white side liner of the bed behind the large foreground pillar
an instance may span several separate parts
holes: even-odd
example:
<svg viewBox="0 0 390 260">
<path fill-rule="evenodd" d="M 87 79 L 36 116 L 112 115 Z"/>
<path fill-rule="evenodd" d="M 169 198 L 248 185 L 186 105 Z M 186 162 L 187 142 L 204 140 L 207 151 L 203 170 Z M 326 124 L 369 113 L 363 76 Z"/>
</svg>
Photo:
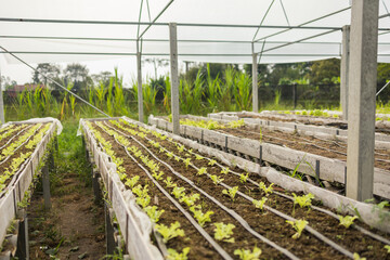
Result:
<svg viewBox="0 0 390 260">
<path fill-rule="evenodd" d="M 150 125 L 167 131 L 172 131 L 172 123 L 166 120 L 150 116 Z M 284 168 L 295 170 L 302 161 L 303 157 L 308 164 L 300 164 L 298 171 L 318 177 L 321 180 L 329 182 L 346 183 L 347 164 L 341 160 L 330 159 L 324 156 L 308 154 L 269 143 L 260 143 L 256 140 L 237 138 L 212 130 L 202 129 L 191 126 L 180 126 L 180 133 L 200 142 L 208 142 L 224 150 L 231 150 L 244 155 L 269 161 Z M 374 172 L 374 194 L 390 198 L 390 172 L 375 168 Z"/>
</svg>

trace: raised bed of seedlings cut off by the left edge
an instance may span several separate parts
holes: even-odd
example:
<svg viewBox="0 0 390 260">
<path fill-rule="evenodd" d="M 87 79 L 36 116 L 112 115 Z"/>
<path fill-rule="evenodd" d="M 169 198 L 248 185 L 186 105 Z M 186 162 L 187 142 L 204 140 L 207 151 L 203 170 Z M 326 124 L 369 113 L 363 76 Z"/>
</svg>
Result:
<svg viewBox="0 0 390 260">
<path fill-rule="evenodd" d="M 0 251 L 3 256 L 15 253 L 16 245 L 4 237 L 8 231 L 13 231 L 13 219 L 21 217 L 21 209 L 27 206 L 34 180 L 48 157 L 48 145 L 53 144 L 58 126 L 54 119 L 36 119 L 0 128 Z"/>
</svg>

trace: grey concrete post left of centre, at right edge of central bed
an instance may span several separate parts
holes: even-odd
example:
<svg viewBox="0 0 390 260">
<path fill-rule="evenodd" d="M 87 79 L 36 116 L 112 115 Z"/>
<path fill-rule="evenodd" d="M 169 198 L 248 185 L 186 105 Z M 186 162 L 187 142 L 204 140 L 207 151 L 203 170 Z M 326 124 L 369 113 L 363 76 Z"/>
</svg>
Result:
<svg viewBox="0 0 390 260">
<path fill-rule="evenodd" d="M 179 74 L 178 74 L 178 32 L 177 24 L 169 23 L 170 43 L 170 76 L 171 76 L 171 103 L 173 133 L 180 134 L 180 112 L 179 112 Z"/>
</svg>

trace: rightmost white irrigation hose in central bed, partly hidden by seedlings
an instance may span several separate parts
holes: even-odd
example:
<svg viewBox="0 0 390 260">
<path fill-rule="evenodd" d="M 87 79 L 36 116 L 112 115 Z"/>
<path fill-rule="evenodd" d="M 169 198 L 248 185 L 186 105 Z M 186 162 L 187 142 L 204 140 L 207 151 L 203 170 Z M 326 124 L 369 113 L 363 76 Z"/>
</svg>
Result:
<svg viewBox="0 0 390 260">
<path fill-rule="evenodd" d="M 128 120 L 127 120 L 127 121 L 128 121 Z M 130 121 L 129 121 L 129 122 L 130 122 Z M 130 122 L 130 123 L 131 123 L 131 122 Z M 160 130 L 160 131 L 161 131 L 161 130 Z M 168 141 L 169 141 L 169 140 L 168 140 Z M 171 142 L 174 143 L 173 141 L 171 141 Z M 185 148 L 185 147 L 184 147 L 184 150 L 185 150 L 185 151 L 188 151 L 188 150 Z M 194 152 L 193 152 L 193 154 L 199 155 L 199 154 L 194 153 Z M 203 156 L 203 157 L 205 157 L 205 156 Z M 208 160 L 211 160 L 211 159 L 208 158 L 208 157 L 205 157 L 205 158 L 208 159 Z M 222 165 L 220 165 L 219 162 L 216 162 L 216 165 L 219 166 L 221 169 L 224 168 L 224 167 L 223 167 Z M 235 176 L 237 176 L 237 177 L 240 176 L 238 172 L 235 172 L 235 171 L 233 171 L 233 170 L 231 170 L 231 169 L 229 170 L 229 172 L 231 172 L 232 174 L 235 174 Z M 248 180 L 251 184 L 253 184 L 255 186 L 258 186 L 258 183 L 257 183 L 256 181 L 251 180 L 250 178 L 248 178 L 247 180 Z M 292 198 L 291 196 L 285 195 L 285 194 L 283 194 L 283 193 L 280 193 L 280 192 L 274 191 L 274 194 L 276 194 L 276 195 L 278 195 L 278 196 L 282 196 L 282 197 L 285 197 L 285 198 L 287 198 L 287 199 L 289 199 L 289 200 L 294 200 L 294 198 Z M 332 212 L 332 211 L 329 211 L 329 210 L 326 210 L 326 209 L 323 209 L 323 208 L 320 208 L 320 207 L 316 207 L 316 206 L 312 206 L 312 208 L 315 209 L 315 210 L 318 210 L 318 211 L 321 211 L 321 212 L 323 212 L 323 213 L 326 213 L 326 214 L 328 214 L 328 216 L 330 216 L 330 217 L 333 217 L 333 218 L 335 218 L 335 219 L 337 219 L 337 220 L 339 219 L 337 214 L 335 214 L 334 212 Z M 374 239 L 377 239 L 377 240 L 379 240 L 379 242 L 382 242 L 384 244 L 390 245 L 390 240 L 389 240 L 389 239 L 387 239 L 387 238 L 385 238 L 385 237 L 381 237 L 380 235 L 374 234 L 374 233 L 365 230 L 364 227 L 361 227 L 360 225 L 352 224 L 351 226 L 354 227 L 354 229 L 356 229 L 356 230 L 359 230 L 359 231 L 362 232 L 363 234 L 365 234 L 365 235 L 367 235 L 367 236 L 370 236 L 370 237 L 374 238 Z"/>
</svg>

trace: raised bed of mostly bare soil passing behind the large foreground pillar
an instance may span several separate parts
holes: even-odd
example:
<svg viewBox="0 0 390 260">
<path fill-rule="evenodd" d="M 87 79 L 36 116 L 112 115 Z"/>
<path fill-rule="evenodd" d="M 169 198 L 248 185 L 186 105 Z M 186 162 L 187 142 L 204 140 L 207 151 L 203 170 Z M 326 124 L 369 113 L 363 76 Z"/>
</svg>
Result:
<svg viewBox="0 0 390 260">
<path fill-rule="evenodd" d="M 243 119 L 184 117 L 180 131 L 188 139 L 272 165 L 299 180 L 344 193 L 347 144 L 343 141 L 248 125 Z M 172 129 L 172 123 L 162 118 L 151 116 L 148 122 L 165 130 Z M 387 148 L 377 147 L 375 151 L 374 194 L 389 199 L 390 142 L 382 143 Z"/>
</svg>

